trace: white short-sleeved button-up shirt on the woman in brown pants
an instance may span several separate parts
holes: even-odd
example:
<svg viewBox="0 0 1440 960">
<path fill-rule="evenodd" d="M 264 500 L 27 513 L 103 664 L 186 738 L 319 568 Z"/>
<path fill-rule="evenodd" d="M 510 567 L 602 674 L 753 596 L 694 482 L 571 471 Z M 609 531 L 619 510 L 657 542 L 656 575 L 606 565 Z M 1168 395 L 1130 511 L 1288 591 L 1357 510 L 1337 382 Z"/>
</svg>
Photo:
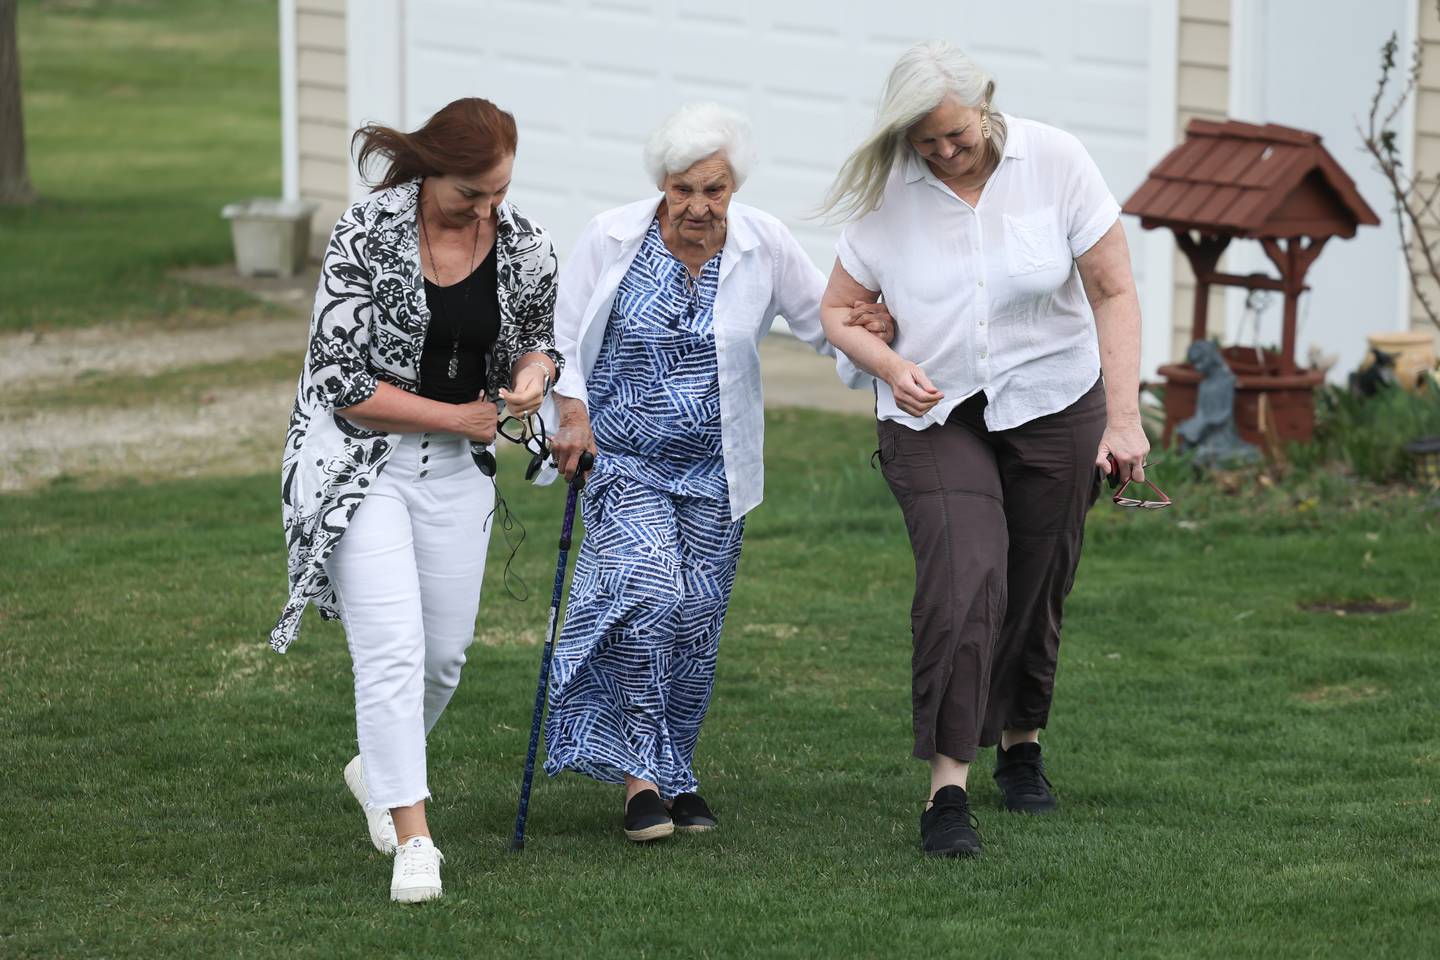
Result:
<svg viewBox="0 0 1440 960">
<path fill-rule="evenodd" d="M 1005 124 L 1005 154 L 973 207 L 910 150 L 880 209 L 841 233 L 841 266 L 896 318 L 891 348 L 945 393 L 913 417 L 877 380 L 881 420 L 923 430 L 984 390 L 985 425 L 1005 430 L 1064 410 L 1100 376 L 1076 258 L 1120 204 L 1073 135 L 1009 115 Z"/>
</svg>

